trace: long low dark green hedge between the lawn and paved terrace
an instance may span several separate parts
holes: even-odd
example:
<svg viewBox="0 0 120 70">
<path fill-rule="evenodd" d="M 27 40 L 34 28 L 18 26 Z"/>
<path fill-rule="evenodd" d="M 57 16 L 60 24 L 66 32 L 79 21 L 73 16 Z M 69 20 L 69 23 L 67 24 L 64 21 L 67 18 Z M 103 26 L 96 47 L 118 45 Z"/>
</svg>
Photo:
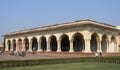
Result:
<svg viewBox="0 0 120 70">
<path fill-rule="evenodd" d="M 103 57 L 103 58 L 81 57 L 81 58 L 0 61 L 0 67 L 19 67 L 45 64 L 76 63 L 76 62 L 102 62 L 120 64 L 120 57 Z"/>
</svg>

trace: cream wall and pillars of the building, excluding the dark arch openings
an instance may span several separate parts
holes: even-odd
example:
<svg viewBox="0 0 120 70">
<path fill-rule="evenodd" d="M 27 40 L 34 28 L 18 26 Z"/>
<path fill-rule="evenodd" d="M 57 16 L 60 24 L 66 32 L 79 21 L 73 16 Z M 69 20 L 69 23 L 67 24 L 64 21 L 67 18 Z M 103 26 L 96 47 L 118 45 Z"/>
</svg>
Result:
<svg viewBox="0 0 120 70">
<path fill-rule="evenodd" d="M 44 32 L 38 32 L 38 33 L 30 33 L 30 34 L 22 34 L 22 35 L 18 35 L 18 36 L 13 36 L 13 37 L 6 37 L 6 48 L 5 51 L 8 51 L 8 45 L 7 42 L 8 40 L 10 40 L 12 42 L 13 39 L 16 40 L 16 44 L 18 43 L 18 39 L 21 39 L 22 42 L 24 42 L 25 38 L 28 38 L 29 40 L 29 52 L 32 52 L 32 38 L 35 37 L 37 39 L 38 42 L 38 52 L 42 51 L 40 48 L 40 38 L 42 36 L 45 36 L 46 38 L 46 42 L 47 42 L 47 52 L 51 52 L 50 50 L 50 44 L 49 44 L 49 38 L 50 36 L 54 35 L 57 39 L 57 52 L 61 52 L 61 36 L 63 34 L 66 34 L 69 37 L 69 41 L 70 41 L 70 50 L 69 52 L 74 52 L 73 50 L 73 38 L 72 36 L 75 33 L 81 33 L 84 37 L 84 41 L 85 41 L 85 50 L 83 51 L 84 53 L 89 53 L 91 52 L 90 50 L 90 40 L 91 40 L 91 35 L 93 33 L 97 33 L 99 36 L 99 40 L 98 40 L 98 52 L 102 52 L 101 51 L 101 40 L 102 40 L 102 36 L 104 34 L 106 34 L 108 36 L 108 47 L 107 47 L 107 52 L 118 52 L 118 41 L 119 41 L 119 37 L 116 37 L 116 44 L 113 45 L 113 43 L 111 43 L 111 36 L 113 36 L 113 34 L 115 36 L 117 36 L 117 32 L 114 31 L 110 31 L 108 29 L 103 29 L 103 28 L 98 28 L 98 27 L 89 27 L 89 26 L 81 26 L 81 27 L 77 27 L 77 28 L 69 28 L 69 29 L 61 29 L 61 30 L 54 30 L 54 31 L 44 31 Z M 117 50 L 115 50 L 115 48 L 113 48 L 112 46 L 116 47 Z M 18 46 L 16 46 L 16 50 L 18 50 Z M 25 46 L 22 45 L 22 51 L 25 51 Z"/>
</svg>

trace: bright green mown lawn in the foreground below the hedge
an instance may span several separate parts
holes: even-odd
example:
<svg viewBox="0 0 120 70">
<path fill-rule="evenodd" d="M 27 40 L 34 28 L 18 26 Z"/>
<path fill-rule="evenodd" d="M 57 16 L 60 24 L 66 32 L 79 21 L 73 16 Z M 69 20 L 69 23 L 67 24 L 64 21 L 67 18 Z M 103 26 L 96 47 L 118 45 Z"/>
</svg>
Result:
<svg viewBox="0 0 120 70">
<path fill-rule="evenodd" d="M 67 64 L 0 68 L 0 70 L 120 70 L 120 64 L 79 62 Z"/>
</svg>

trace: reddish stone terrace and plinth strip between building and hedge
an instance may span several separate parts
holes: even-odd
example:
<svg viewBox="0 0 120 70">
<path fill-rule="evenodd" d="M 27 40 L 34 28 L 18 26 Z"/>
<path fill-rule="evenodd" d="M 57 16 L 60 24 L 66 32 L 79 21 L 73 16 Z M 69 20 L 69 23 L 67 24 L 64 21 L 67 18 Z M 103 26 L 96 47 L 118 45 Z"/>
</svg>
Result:
<svg viewBox="0 0 120 70">
<path fill-rule="evenodd" d="M 102 53 L 103 56 L 120 56 L 120 53 Z M 95 57 L 94 53 L 69 53 L 69 52 L 39 52 L 36 54 L 27 53 L 26 56 L 16 56 L 3 54 L 0 60 L 32 60 L 32 59 L 54 59 L 54 58 L 71 58 L 71 57 Z"/>
</svg>

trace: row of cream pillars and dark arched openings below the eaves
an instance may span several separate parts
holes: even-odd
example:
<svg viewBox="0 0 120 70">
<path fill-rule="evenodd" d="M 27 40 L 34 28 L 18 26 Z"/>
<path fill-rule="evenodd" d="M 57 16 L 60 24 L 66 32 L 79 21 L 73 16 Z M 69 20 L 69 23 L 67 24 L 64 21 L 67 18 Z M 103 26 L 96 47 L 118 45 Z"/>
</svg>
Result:
<svg viewBox="0 0 120 70">
<path fill-rule="evenodd" d="M 7 38 L 5 51 L 36 52 L 115 52 L 117 41 L 115 36 L 80 32 L 73 34 L 28 36 Z"/>
</svg>

